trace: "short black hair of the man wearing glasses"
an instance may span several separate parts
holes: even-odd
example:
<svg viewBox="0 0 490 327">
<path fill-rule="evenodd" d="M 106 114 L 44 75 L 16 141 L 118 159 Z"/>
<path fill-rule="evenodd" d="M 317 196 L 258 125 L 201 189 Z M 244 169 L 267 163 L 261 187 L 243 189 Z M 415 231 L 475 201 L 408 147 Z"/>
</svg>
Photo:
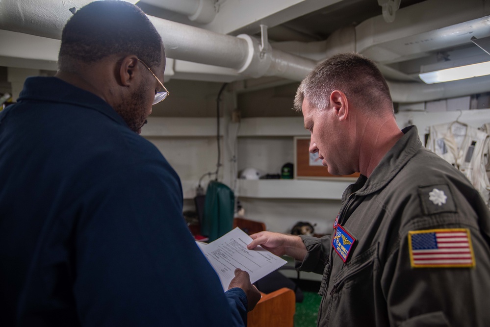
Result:
<svg viewBox="0 0 490 327">
<path fill-rule="evenodd" d="M 162 39 L 145 13 L 120 0 L 94 1 L 77 10 L 63 28 L 58 61 L 91 63 L 121 53 L 150 67 L 161 62 Z M 63 67 L 60 67 L 63 68 Z"/>
</svg>

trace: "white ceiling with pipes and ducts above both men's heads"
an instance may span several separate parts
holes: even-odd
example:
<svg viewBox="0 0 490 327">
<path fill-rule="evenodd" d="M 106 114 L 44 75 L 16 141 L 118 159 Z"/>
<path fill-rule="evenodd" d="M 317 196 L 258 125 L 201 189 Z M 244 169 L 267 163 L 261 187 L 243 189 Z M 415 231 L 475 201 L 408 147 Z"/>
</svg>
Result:
<svg viewBox="0 0 490 327">
<path fill-rule="evenodd" d="M 0 66 L 55 70 L 57 39 L 71 15 L 68 8 L 87 2 L 1 0 L 0 39 L 9 46 L 0 47 Z M 385 3 L 384 14 L 380 3 Z M 490 37 L 489 0 L 401 0 L 399 9 L 388 10 L 390 5 L 396 9 L 396 4 L 396 0 L 137 3 L 162 35 L 171 58 L 166 80 L 247 79 L 264 81 L 247 85 L 276 86 L 301 80 L 334 53 L 358 51 L 379 64 L 395 102 L 490 91 L 489 77 L 433 85 L 418 78 L 424 65 L 490 59 L 471 41 Z M 261 37 L 268 40 L 264 47 Z"/>
</svg>

